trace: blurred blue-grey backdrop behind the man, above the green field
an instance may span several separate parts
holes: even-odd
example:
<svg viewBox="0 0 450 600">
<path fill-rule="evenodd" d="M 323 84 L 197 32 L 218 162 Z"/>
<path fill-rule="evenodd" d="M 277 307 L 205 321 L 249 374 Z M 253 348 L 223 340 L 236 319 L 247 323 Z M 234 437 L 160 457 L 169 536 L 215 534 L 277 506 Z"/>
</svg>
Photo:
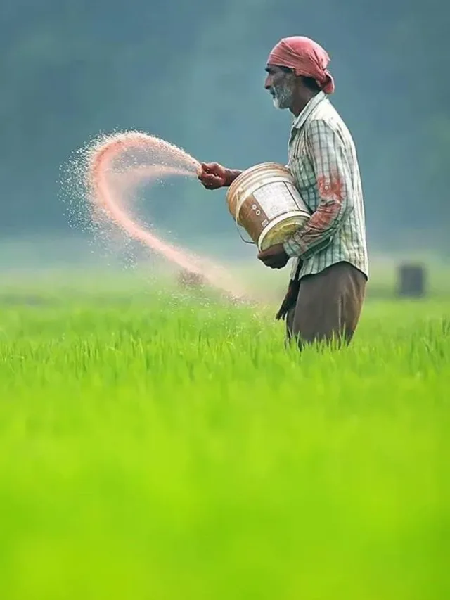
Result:
<svg viewBox="0 0 450 600">
<path fill-rule="evenodd" d="M 145 130 L 231 167 L 285 162 L 290 115 L 272 107 L 264 66 L 278 39 L 304 34 L 332 59 L 371 242 L 447 252 L 449 25 L 445 0 L 4 0 L 2 233 L 67 229 L 60 165 L 99 132 Z M 196 231 L 231 231 L 224 193 L 164 193 L 171 210 L 149 209 L 161 226 L 188 231 L 195 215 Z"/>
</svg>

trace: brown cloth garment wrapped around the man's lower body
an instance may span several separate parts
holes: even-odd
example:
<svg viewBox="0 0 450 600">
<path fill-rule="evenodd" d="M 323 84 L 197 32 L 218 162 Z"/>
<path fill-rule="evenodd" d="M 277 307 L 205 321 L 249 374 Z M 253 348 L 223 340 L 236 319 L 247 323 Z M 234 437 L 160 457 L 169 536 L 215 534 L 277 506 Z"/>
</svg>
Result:
<svg viewBox="0 0 450 600">
<path fill-rule="evenodd" d="M 286 314 L 288 342 L 348 344 L 358 325 L 366 276 L 349 262 L 338 262 L 300 279 L 297 301 Z"/>
</svg>

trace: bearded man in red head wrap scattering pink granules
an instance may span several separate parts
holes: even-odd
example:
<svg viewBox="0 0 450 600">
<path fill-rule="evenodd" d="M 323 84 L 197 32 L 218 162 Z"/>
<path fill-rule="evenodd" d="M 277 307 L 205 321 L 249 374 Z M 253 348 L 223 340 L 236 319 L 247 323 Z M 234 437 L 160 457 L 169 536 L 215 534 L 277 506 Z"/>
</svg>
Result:
<svg viewBox="0 0 450 600">
<path fill-rule="evenodd" d="M 267 267 L 294 259 L 277 319 L 288 340 L 349 343 L 359 322 L 368 280 L 366 226 L 354 142 L 328 95 L 334 91 L 329 57 L 307 37 L 276 44 L 266 64 L 265 89 L 276 108 L 294 115 L 288 168 L 311 219 L 283 244 L 259 253 Z M 207 189 L 230 186 L 241 171 L 203 163 Z"/>
</svg>

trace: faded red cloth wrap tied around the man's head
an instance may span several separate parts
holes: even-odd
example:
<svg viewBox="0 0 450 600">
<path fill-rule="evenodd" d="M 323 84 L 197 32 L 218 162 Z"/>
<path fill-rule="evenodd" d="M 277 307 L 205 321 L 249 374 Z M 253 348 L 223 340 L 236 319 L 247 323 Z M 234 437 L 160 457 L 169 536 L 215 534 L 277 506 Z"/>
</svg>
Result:
<svg viewBox="0 0 450 600">
<path fill-rule="evenodd" d="M 267 63 L 277 67 L 289 67 L 295 75 L 316 79 L 326 94 L 333 94 L 335 84 L 327 70 L 330 57 L 326 51 L 308 37 L 285 37 L 269 54 Z"/>
</svg>

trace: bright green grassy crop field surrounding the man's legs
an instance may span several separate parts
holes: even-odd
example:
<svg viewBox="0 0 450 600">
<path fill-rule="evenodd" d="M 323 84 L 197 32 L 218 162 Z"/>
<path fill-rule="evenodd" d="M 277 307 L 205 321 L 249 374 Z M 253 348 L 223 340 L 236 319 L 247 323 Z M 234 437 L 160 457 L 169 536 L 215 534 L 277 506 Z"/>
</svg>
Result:
<svg viewBox="0 0 450 600">
<path fill-rule="evenodd" d="M 195 295 L 1 307 L 4 600 L 442 600 L 450 302 L 285 350 Z"/>
</svg>

